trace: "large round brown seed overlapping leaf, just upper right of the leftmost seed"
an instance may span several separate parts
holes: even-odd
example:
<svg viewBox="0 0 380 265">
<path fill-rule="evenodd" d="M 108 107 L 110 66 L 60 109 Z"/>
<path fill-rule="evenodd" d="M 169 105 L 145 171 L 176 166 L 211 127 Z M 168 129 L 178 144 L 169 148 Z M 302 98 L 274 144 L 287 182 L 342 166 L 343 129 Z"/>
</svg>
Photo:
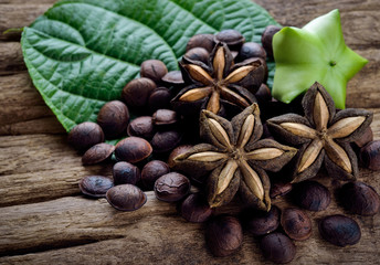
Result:
<svg viewBox="0 0 380 265">
<path fill-rule="evenodd" d="M 97 115 L 97 123 L 106 138 L 120 136 L 129 123 L 128 107 L 119 100 L 106 103 Z"/>
</svg>

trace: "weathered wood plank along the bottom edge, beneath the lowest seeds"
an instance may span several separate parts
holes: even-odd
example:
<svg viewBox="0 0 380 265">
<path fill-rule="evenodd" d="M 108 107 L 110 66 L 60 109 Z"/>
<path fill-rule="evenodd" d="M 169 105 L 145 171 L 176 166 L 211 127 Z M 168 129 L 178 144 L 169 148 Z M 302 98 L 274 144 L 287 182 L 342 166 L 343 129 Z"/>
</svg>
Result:
<svg viewBox="0 0 380 265">
<path fill-rule="evenodd" d="M 379 182 L 377 186 L 379 189 Z M 257 241 L 247 233 L 236 255 L 212 257 L 205 247 L 202 224 L 184 222 L 177 215 L 173 204 L 157 201 L 152 192 L 147 194 L 148 202 L 136 212 L 116 211 L 105 199 L 83 198 L 3 208 L 0 253 L 6 256 L 0 257 L 0 263 L 265 263 Z M 277 200 L 275 204 L 279 208 L 288 205 L 284 200 Z M 313 236 L 305 242 L 296 242 L 297 255 L 293 264 L 377 264 L 380 257 L 380 242 L 377 240 L 380 236 L 379 215 L 353 216 L 361 226 L 361 241 L 342 248 L 324 242 L 317 231 L 317 220 L 330 213 L 342 211 L 332 202 L 326 211 L 308 212 L 313 219 Z M 17 255 L 18 252 L 30 251 L 40 253 Z"/>
</svg>

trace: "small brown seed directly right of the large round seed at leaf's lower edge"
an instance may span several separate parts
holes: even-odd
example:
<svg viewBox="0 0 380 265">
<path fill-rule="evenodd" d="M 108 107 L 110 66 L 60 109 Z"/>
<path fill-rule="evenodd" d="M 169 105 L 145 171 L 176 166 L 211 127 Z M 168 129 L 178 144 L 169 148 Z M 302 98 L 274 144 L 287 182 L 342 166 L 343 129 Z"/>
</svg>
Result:
<svg viewBox="0 0 380 265">
<path fill-rule="evenodd" d="M 156 129 L 150 116 L 140 116 L 129 123 L 127 132 L 129 136 L 136 136 L 146 140 L 151 140 L 156 134 Z"/>
</svg>

